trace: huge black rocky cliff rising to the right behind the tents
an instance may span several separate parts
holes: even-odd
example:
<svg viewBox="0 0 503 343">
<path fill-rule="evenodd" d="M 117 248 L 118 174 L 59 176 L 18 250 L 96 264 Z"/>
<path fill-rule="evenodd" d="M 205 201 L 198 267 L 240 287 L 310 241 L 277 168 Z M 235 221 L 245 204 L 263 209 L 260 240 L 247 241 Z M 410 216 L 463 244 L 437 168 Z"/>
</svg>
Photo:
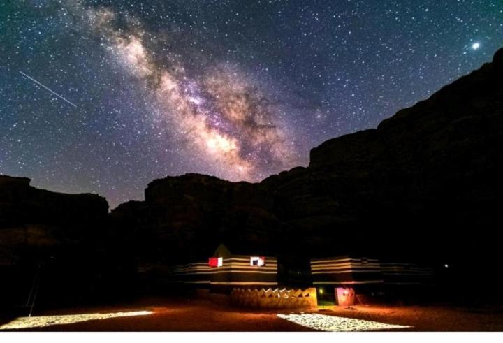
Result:
<svg viewBox="0 0 503 343">
<path fill-rule="evenodd" d="M 223 241 L 289 255 L 467 263 L 490 258 L 502 224 L 501 147 L 503 50 L 377 129 L 312 149 L 307 168 L 258 184 L 166 177 L 111 216 L 148 236 L 156 258 L 207 256 Z"/>
</svg>

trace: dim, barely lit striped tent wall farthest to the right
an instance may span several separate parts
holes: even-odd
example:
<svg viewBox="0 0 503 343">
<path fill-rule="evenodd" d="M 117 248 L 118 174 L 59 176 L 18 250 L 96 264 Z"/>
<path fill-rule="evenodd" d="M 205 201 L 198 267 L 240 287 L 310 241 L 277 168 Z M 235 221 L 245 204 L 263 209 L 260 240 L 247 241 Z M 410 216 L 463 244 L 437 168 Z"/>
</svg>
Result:
<svg viewBox="0 0 503 343">
<path fill-rule="evenodd" d="M 419 285 L 433 278 L 431 268 L 420 268 L 414 263 L 381 263 L 381 270 L 387 285 Z"/>
</svg>

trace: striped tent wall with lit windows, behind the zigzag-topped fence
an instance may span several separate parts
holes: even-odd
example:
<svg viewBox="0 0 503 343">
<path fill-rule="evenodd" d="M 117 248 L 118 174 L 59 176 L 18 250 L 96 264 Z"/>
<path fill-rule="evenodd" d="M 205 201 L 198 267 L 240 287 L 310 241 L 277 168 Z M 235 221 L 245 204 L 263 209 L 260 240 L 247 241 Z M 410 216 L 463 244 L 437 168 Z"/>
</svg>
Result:
<svg viewBox="0 0 503 343">
<path fill-rule="evenodd" d="M 265 257 L 265 265 L 250 265 L 250 256 L 223 258 L 221 267 L 211 269 L 211 286 L 277 286 L 277 258 Z"/>
</svg>

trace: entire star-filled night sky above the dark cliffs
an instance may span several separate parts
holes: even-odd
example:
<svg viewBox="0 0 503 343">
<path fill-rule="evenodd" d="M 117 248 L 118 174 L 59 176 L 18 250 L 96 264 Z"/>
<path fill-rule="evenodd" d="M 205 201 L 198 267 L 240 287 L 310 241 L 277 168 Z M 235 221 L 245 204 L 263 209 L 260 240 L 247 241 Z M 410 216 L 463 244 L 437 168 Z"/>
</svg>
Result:
<svg viewBox="0 0 503 343">
<path fill-rule="evenodd" d="M 0 173 L 111 207 L 166 175 L 259 181 L 502 46 L 501 0 L 4 0 Z"/>
</svg>

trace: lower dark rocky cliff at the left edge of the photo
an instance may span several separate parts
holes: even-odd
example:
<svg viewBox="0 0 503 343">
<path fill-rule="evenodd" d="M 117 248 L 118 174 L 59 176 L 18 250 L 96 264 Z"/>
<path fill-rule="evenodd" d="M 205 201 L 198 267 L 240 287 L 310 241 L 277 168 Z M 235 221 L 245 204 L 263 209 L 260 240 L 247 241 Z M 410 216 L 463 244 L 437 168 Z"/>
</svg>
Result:
<svg viewBox="0 0 503 343">
<path fill-rule="evenodd" d="M 26 304 L 36 284 L 37 305 L 52 306 L 120 294 L 125 275 L 133 283 L 131 257 L 108 229 L 105 198 L 29 183 L 0 175 L 0 314 Z"/>
</svg>

